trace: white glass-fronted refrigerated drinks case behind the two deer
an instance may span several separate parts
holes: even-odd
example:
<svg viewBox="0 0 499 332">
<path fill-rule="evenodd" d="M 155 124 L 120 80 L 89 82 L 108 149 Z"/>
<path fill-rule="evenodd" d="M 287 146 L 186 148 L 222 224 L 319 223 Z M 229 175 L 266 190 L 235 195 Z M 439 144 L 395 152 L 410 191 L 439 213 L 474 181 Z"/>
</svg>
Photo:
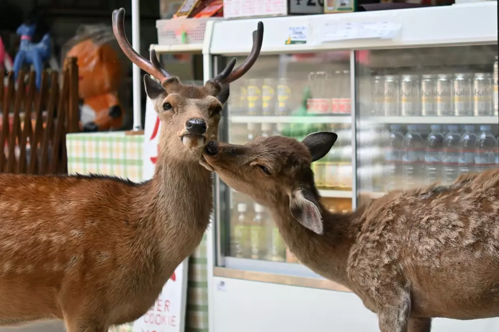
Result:
<svg viewBox="0 0 499 332">
<path fill-rule="evenodd" d="M 496 12 L 485 3 L 260 19 L 261 55 L 231 85 L 219 139 L 338 133 L 312 165 L 323 203 L 338 212 L 499 167 Z M 258 21 L 212 24 L 205 80 L 244 59 Z M 294 27 L 305 43 L 289 43 Z M 216 176 L 208 290 L 210 331 L 379 330 L 356 295 L 296 260 L 265 208 Z M 499 319 L 435 319 L 432 331 L 497 328 Z"/>
</svg>

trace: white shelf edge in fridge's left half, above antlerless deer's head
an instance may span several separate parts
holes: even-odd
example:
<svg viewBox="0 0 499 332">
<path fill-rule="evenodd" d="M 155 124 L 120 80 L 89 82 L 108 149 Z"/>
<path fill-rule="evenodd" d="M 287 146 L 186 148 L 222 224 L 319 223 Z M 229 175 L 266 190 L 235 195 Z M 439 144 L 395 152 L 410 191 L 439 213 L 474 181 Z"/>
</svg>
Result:
<svg viewBox="0 0 499 332">
<path fill-rule="evenodd" d="M 245 123 L 271 123 L 271 124 L 351 124 L 350 115 L 319 115 L 319 116 L 249 116 L 232 115 L 229 121 L 234 124 Z"/>
</svg>

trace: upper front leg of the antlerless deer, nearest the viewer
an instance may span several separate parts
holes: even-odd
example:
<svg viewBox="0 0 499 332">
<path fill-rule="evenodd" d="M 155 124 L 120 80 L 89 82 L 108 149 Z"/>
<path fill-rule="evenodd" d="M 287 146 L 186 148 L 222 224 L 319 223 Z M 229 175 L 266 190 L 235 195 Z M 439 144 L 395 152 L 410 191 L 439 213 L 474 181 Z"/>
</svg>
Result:
<svg viewBox="0 0 499 332">
<path fill-rule="evenodd" d="M 381 332 L 407 332 L 410 315 L 410 294 L 406 289 L 380 292 L 378 323 Z"/>
</svg>

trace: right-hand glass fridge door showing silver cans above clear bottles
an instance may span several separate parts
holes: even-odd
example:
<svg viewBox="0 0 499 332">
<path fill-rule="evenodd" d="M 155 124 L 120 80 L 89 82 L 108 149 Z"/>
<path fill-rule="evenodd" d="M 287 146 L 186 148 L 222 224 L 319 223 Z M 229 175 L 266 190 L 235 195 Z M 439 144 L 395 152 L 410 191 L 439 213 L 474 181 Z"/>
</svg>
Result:
<svg viewBox="0 0 499 332">
<path fill-rule="evenodd" d="M 356 52 L 358 200 L 499 167 L 497 45 Z"/>
</svg>

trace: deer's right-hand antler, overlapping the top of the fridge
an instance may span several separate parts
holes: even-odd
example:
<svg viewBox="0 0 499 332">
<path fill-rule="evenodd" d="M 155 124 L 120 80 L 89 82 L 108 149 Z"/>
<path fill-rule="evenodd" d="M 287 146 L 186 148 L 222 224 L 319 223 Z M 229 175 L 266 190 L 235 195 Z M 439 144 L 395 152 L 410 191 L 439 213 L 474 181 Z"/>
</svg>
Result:
<svg viewBox="0 0 499 332">
<path fill-rule="evenodd" d="M 213 80 L 217 81 L 220 84 L 229 84 L 236 79 L 240 78 L 242 75 L 246 74 L 248 70 L 255 64 L 257 61 L 258 55 L 260 55 L 260 50 L 262 49 L 263 42 L 263 23 L 258 22 L 257 29 L 253 32 L 253 46 L 251 48 L 250 55 L 246 57 L 244 62 L 232 70 L 236 65 L 236 58 L 233 57 L 227 67 L 220 74 L 216 75 Z"/>
</svg>

